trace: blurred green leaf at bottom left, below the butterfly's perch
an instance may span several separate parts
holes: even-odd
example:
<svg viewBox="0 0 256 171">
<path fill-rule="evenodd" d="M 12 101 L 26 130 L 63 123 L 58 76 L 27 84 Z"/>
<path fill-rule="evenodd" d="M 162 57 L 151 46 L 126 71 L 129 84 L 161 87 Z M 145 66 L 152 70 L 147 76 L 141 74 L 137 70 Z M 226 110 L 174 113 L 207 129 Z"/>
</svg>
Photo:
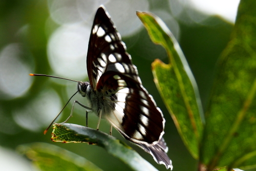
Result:
<svg viewBox="0 0 256 171">
<path fill-rule="evenodd" d="M 19 145 L 18 151 L 25 153 L 40 170 L 101 171 L 87 159 L 48 143 Z"/>
</svg>

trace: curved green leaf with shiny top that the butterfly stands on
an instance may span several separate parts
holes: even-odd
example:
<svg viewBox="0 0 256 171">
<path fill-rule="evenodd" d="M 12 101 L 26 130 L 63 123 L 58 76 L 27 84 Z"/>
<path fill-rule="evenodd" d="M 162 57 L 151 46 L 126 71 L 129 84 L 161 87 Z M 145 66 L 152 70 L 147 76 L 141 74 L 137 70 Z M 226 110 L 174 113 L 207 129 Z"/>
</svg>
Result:
<svg viewBox="0 0 256 171">
<path fill-rule="evenodd" d="M 113 156 L 119 158 L 133 170 L 157 170 L 144 160 L 130 146 L 115 137 L 92 128 L 75 124 L 56 124 L 52 140 L 58 142 L 87 142 L 104 148 Z"/>
</svg>

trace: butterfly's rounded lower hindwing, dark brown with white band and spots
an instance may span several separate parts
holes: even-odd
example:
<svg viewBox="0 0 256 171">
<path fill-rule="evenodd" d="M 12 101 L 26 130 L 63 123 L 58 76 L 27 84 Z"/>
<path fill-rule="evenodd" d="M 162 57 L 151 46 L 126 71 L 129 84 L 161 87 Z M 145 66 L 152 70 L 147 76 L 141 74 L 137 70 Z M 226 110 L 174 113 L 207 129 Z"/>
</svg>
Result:
<svg viewBox="0 0 256 171">
<path fill-rule="evenodd" d="M 162 112 L 146 89 L 133 79 L 133 75 L 128 77 L 127 74 L 107 71 L 98 84 L 102 85 L 100 87 L 106 98 L 109 96 L 109 100 L 115 104 L 114 111 L 106 119 L 126 139 L 137 143 L 158 142 L 163 135 Z"/>
</svg>

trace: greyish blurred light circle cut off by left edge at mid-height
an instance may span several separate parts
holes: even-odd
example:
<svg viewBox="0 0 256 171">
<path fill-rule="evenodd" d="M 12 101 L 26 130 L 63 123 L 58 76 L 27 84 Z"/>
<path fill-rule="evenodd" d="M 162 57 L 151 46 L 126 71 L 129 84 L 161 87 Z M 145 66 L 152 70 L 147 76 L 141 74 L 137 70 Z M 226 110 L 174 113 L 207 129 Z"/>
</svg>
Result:
<svg viewBox="0 0 256 171">
<path fill-rule="evenodd" d="M 25 63 L 23 53 L 18 43 L 11 43 L 0 52 L 0 99 L 22 96 L 31 86 L 32 78 L 28 75 L 33 70 L 33 59 Z"/>
</svg>

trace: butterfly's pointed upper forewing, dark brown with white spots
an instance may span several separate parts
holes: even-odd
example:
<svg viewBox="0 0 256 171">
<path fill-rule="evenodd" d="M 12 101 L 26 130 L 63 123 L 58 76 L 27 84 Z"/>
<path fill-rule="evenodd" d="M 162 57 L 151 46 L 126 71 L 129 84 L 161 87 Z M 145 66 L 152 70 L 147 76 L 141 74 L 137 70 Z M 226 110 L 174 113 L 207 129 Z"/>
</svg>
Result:
<svg viewBox="0 0 256 171">
<path fill-rule="evenodd" d="M 106 70 L 120 68 L 120 63 L 113 64 L 120 58 L 123 63 L 131 64 L 131 57 L 126 53 L 126 47 L 110 16 L 103 8 L 99 8 L 92 26 L 87 54 L 87 71 L 94 90 Z"/>
</svg>

